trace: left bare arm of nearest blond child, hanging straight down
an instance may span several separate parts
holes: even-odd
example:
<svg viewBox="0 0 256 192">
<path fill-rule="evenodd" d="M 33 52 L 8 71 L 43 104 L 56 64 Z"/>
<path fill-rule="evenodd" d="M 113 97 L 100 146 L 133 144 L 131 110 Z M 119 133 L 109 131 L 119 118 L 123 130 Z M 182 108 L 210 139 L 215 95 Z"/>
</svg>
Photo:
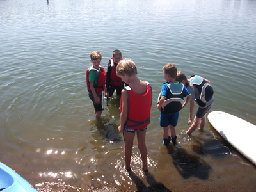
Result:
<svg viewBox="0 0 256 192">
<path fill-rule="evenodd" d="M 124 124 L 127 120 L 128 116 L 128 95 L 125 90 L 122 90 L 122 111 L 120 114 L 120 126 L 118 127 L 118 131 L 124 131 Z"/>
</svg>

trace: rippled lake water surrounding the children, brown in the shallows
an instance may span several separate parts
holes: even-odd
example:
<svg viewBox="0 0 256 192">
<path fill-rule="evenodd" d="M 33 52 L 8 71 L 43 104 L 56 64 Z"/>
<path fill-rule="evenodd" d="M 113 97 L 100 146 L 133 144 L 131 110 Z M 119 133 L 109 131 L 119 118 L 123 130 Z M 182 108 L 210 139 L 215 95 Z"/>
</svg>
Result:
<svg viewBox="0 0 256 192">
<path fill-rule="evenodd" d="M 211 125 L 184 135 L 189 108 L 180 111 L 178 146 L 166 148 L 156 100 L 161 68 L 175 63 L 187 76 L 211 81 L 211 111 L 256 124 L 256 1 L 1 0 L 0 33 L 0 161 L 31 184 L 80 191 L 255 189 L 255 165 Z M 138 76 L 152 84 L 148 175 L 140 170 L 136 145 L 134 173 L 124 170 L 116 98 L 101 120 L 88 98 L 90 52 L 100 51 L 106 68 L 114 49 L 134 60 Z M 248 134 L 241 127 L 241 142 Z"/>
</svg>

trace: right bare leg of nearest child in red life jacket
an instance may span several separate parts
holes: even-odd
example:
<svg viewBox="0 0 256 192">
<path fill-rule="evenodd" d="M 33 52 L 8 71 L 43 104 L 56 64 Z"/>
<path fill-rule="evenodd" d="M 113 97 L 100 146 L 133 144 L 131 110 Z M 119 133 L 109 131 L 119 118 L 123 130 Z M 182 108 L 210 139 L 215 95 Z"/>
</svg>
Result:
<svg viewBox="0 0 256 192">
<path fill-rule="evenodd" d="M 140 150 L 141 160 L 142 160 L 142 169 L 147 170 L 147 161 L 148 161 L 148 150 L 146 146 L 146 132 L 144 131 L 137 131 L 137 141 L 138 141 L 138 148 Z"/>
</svg>

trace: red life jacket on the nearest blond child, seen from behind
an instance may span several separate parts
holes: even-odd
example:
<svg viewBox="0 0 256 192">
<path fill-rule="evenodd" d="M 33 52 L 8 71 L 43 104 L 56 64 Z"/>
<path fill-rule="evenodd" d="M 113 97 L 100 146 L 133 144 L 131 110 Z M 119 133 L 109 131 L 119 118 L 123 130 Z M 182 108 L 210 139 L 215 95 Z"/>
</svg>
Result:
<svg viewBox="0 0 256 192">
<path fill-rule="evenodd" d="M 143 129 L 150 123 L 152 106 L 152 87 L 147 83 L 147 91 L 141 95 L 126 86 L 128 93 L 128 116 L 126 120 L 127 129 Z M 120 99 L 120 113 L 122 112 L 122 97 Z"/>
</svg>

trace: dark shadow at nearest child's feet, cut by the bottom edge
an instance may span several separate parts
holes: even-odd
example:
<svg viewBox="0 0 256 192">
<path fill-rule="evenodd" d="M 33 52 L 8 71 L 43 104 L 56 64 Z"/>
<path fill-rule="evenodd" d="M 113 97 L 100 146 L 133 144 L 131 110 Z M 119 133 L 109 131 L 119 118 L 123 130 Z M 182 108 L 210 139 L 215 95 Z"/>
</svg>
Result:
<svg viewBox="0 0 256 192">
<path fill-rule="evenodd" d="M 164 186 L 164 184 L 162 184 L 161 182 L 157 182 L 151 173 L 148 172 L 148 173 L 145 173 L 145 175 L 147 177 L 147 182 L 150 185 L 149 187 L 147 187 L 143 183 L 143 181 L 140 179 L 140 177 L 138 177 L 134 172 L 129 172 L 129 177 L 136 184 L 136 188 L 137 188 L 138 192 L 140 192 L 140 191 L 143 191 L 143 192 L 147 192 L 147 191 L 170 192 L 170 189 L 166 188 L 166 186 Z"/>
</svg>

